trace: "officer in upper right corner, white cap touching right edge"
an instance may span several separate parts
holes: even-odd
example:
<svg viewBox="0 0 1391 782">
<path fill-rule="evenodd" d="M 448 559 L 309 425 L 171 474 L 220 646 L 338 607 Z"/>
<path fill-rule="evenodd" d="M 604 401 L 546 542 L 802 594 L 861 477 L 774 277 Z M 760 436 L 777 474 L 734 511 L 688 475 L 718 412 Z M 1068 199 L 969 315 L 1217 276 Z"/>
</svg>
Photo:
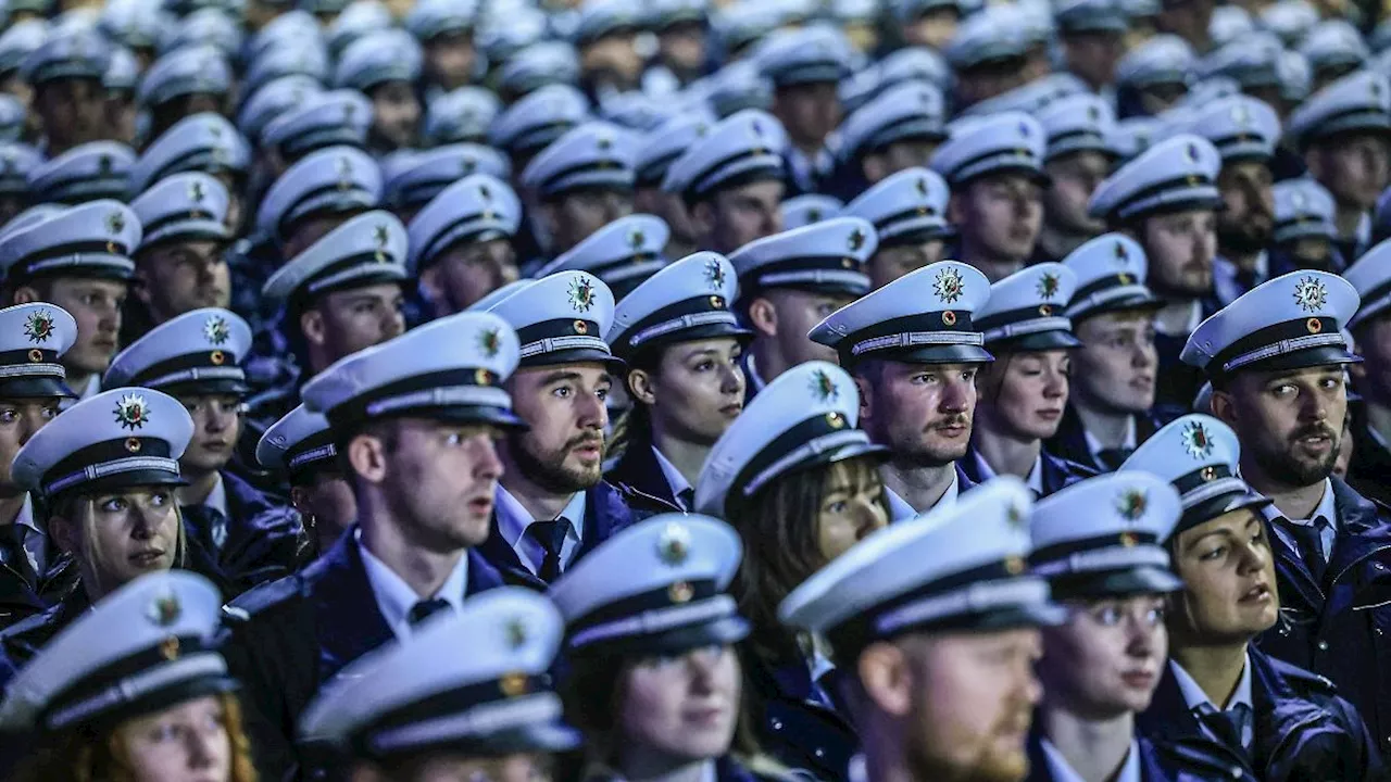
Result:
<svg viewBox="0 0 1391 782">
<path fill-rule="evenodd" d="M 1287 122 L 1309 175 L 1328 188 L 1338 205 L 1338 249 L 1348 260 L 1370 245 L 1370 210 L 1391 179 L 1388 124 L 1391 82 L 1374 71 L 1359 71 L 1320 89 Z"/>
</svg>

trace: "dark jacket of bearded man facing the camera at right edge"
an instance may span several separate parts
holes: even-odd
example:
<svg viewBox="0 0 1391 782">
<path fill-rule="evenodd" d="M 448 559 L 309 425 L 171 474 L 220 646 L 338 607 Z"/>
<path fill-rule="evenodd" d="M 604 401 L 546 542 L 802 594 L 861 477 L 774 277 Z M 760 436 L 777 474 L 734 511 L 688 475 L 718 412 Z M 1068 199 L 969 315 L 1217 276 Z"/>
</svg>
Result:
<svg viewBox="0 0 1391 782">
<path fill-rule="evenodd" d="M 1327 582 L 1271 534 L 1280 621 L 1256 644 L 1271 657 L 1327 676 L 1351 700 L 1383 754 L 1391 751 L 1391 513 L 1333 479 L 1338 537 Z"/>
</svg>

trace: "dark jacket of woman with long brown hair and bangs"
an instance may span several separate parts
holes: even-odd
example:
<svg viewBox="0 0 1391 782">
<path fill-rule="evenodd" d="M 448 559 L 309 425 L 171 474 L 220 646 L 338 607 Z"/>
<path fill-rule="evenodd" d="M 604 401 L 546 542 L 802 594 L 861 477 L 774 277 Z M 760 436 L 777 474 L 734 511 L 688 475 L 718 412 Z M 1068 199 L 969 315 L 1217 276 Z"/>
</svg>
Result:
<svg viewBox="0 0 1391 782">
<path fill-rule="evenodd" d="M 793 771 L 822 782 L 847 782 L 860 737 L 850 719 L 817 700 L 804 660 L 773 667 L 741 650 L 744 686 L 758 744 Z"/>
</svg>

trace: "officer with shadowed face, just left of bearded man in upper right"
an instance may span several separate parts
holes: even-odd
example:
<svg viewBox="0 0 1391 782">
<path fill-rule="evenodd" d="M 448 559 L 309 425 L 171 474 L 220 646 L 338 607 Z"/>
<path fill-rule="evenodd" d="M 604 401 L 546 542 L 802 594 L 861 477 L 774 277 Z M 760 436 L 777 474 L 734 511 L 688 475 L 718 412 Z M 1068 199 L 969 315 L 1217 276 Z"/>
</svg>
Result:
<svg viewBox="0 0 1391 782">
<path fill-rule="evenodd" d="M 1047 135 L 1043 171 L 1049 182 L 1035 263 L 1061 260 L 1106 230 L 1086 207 L 1116 157 L 1116 113 L 1095 95 L 1054 100 L 1038 111 L 1038 121 Z"/>
</svg>

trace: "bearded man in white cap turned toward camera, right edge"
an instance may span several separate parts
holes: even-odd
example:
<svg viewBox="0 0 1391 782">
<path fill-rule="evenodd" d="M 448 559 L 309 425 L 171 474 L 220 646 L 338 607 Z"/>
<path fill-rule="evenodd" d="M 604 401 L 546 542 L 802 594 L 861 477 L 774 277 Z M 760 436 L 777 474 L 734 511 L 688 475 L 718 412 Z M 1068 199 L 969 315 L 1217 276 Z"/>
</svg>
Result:
<svg viewBox="0 0 1391 782">
<path fill-rule="evenodd" d="M 1391 749 L 1391 568 L 1387 512 L 1334 477 L 1348 413 L 1349 352 L 1340 330 L 1358 291 L 1323 271 L 1259 285 L 1207 319 L 1184 360 L 1213 384 L 1213 415 L 1241 440 L 1241 476 L 1263 509 L 1280 584 L 1280 621 L 1260 646 L 1331 679 Z"/>
</svg>

